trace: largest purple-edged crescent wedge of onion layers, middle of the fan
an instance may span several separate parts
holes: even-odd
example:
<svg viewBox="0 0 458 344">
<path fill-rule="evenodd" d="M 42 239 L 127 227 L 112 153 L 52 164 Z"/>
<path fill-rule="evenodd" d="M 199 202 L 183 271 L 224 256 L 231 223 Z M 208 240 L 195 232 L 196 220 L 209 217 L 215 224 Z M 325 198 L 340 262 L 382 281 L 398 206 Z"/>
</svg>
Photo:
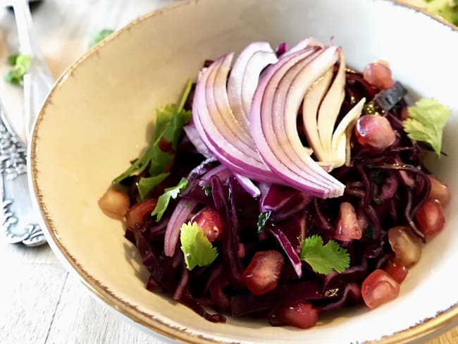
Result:
<svg viewBox="0 0 458 344">
<path fill-rule="evenodd" d="M 299 156 L 292 149 L 286 131 L 294 130 L 297 135 L 297 128 L 282 128 L 285 122 L 281 118 L 297 116 L 305 92 L 337 58 L 335 47 L 312 47 L 282 57 L 261 77 L 250 112 L 252 135 L 264 163 L 289 185 L 318 197 L 338 197 L 345 186 L 310 156 Z M 295 164 L 299 159 L 302 166 Z"/>
</svg>

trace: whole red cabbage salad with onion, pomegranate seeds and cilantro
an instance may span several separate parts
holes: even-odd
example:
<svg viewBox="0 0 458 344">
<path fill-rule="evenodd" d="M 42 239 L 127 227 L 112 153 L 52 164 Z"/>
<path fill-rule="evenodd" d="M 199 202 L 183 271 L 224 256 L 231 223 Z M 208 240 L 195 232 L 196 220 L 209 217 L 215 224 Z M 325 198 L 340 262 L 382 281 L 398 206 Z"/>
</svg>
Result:
<svg viewBox="0 0 458 344">
<path fill-rule="evenodd" d="M 151 145 L 99 200 L 125 220 L 146 288 L 213 322 L 315 326 L 319 314 L 394 300 L 445 224 L 450 109 L 407 104 L 387 62 L 363 73 L 307 38 L 205 61 Z"/>
</svg>

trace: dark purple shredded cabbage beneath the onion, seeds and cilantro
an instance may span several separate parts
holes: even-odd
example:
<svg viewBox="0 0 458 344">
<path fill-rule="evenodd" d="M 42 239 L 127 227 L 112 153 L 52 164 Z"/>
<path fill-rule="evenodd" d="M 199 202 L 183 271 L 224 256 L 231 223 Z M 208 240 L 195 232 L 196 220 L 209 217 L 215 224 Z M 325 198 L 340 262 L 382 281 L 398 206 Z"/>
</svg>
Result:
<svg viewBox="0 0 458 344">
<path fill-rule="evenodd" d="M 285 47 L 280 45 L 278 53 L 281 54 L 283 49 Z M 399 83 L 396 87 L 404 90 Z M 392 93 L 388 92 L 389 95 Z M 347 70 L 345 101 L 340 116 L 362 97 L 371 100 L 376 94 L 376 87 L 366 82 L 361 73 Z M 346 185 L 345 194 L 338 199 L 318 199 L 273 185 L 260 204 L 259 199 L 250 197 L 235 178 L 213 176 L 210 180 L 201 180 L 204 173 L 218 165 L 218 161 L 204 161 L 184 135 L 171 176 L 177 181 L 187 176 L 190 183 L 180 197 L 197 201 L 199 206 L 195 211 L 212 207 L 218 212 L 223 231 L 213 245 L 219 255 L 210 266 L 185 270 L 180 244 L 173 257 L 166 257 L 163 253 L 164 233 L 173 207 L 169 207 L 172 209 L 166 211 L 159 223 L 147 214 L 143 226 L 137 224 L 125 232 L 125 237 L 136 245 L 151 274 L 147 289 L 175 295 L 178 302 L 213 322 L 225 321 L 221 313 L 235 317 L 249 314 L 251 317 L 267 317 L 271 324 L 279 325 L 276 319 L 278 309 L 297 302 L 310 302 L 318 312 L 360 304 L 364 278 L 374 269 L 383 268 L 392 257 L 388 229 L 409 226 L 423 238 L 414 218 L 428 197 L 431 185 L 419 160 L 421 147 L 409 140 L 402 128 L 400 114 L 406 103 L 402 97 L 397 100 L 397 104 L 390 104 L 390 109 L 383 113 L 396 130 L 395 144 L 378 152 L 362 147 L 352 137 L 351 164 L 332 171 L 333 176 Z M 190 109 L 191 105 L 192 97 L 186 108 Z M 400 171 L 415 180 L 414 188 L 404 183 Z M 128 180 L 130 190 L 135 190 L 137 180 Z M 262 190 L 265 192 L 266 188 Z M 131 195 L 132 199 L 135 195 Z M 299 279 L 275 236 L 257 232 L 259 212 L 271 211 L 266 226 L 282 231 L 290 243 L 288 250 L 292 247 L 299 253 L 304 235 L 318 234 L 325 241 L 333 239 L 341 202 L 350 202 L 357 214 L 366 216 L 369 226 L 361 240 L 340 242 L 351 257 L 351 266 L 340 274 L 335 271 L 327 276 L 315 274 L 303 262 L 303 276 Z M 242 274 L 254 253 L 260 250 L 278 250 L 285 255 L 285 266 L 277 288 L 265 295 L 253 295 L 245 287 Z M 216 313 L 211 313 L 210 309 Z"/>
</svg>

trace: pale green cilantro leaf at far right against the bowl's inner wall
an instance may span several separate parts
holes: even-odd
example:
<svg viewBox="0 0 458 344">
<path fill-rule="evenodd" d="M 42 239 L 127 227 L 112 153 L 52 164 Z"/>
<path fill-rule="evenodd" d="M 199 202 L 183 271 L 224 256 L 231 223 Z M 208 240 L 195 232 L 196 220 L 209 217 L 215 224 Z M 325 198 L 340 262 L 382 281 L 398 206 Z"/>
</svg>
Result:
<svg viewBox="0 0 458 344">
<path fill-rule="evenodd" d="M 442 130 L 450 117 L 450 109 L 434 98 L 423 98 L 407 108 L 409 118 L 402 121 L 411 140 L 426 142 L 440 156 Z"/>
</svg>

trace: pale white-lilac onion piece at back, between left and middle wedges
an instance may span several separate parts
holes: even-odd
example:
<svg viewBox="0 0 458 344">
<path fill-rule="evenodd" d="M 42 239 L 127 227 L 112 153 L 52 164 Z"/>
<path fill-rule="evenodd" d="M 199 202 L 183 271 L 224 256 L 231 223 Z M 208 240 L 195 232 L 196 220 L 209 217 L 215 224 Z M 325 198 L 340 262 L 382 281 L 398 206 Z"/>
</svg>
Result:
<svg viewBox="0 0 458 344">
<path fill-rule="evenodd" d="M 249 109 L 261 71 L 278 61 L 267 42 L 253 42 L 235 60 L 228 80 L 228 99 L 237 121 L 249 132 Z M 254 146 L 254 144 L 253 144 Z"/>
</svg>

